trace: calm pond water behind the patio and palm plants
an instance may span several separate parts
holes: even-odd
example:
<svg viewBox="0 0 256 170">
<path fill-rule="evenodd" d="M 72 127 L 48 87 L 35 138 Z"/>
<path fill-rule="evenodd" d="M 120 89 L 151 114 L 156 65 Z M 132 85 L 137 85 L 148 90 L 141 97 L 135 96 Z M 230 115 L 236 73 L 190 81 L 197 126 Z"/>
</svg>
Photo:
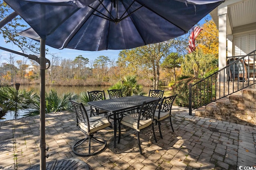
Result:
<svg viewBox="0 0 256 170">
<path fill-rule="evenodd" d="M 46 93 L 48 93 L 51 89 L 56 90 L 58 94 L 64 94 L 67 92 L 72 92 L 75 94 L 80 94 L 81 92 L 85 91 L 92 91 L 92 90 L 104 90 L 105 94 L 106 94 L 106 98 L 108 98 L 108 90 L 109 86 L 86 86 L 86 87 L 59 87 L 59 86 L 52 86 L 52 87 L 47 87 L 45 88 Z M 38 95 L 40 95 L 40 86 L 39 85 L 20 85 L 20 90 L 21 89 L 26 89 L 26 90 L 34 90 L 35 93 L 37 93 Z M 145 93 L 148 93 L 150 87 L 146 87 L 143 88 L 143 91 Z M 6 115 L 4 115 L 2 118 L 0 118 L 0 121 L 6 121 L 6 120 L 12 120 L 12 119 L 18 119 L 21 117 L 24 117 L 24 115 L 26 115 L 27 113 L 25 113 L 26 111 L 22 110 L 22 111 L 17 111 L 18 115 L 16 115 L 14 113 L 6 113 Z"/>
</svg>

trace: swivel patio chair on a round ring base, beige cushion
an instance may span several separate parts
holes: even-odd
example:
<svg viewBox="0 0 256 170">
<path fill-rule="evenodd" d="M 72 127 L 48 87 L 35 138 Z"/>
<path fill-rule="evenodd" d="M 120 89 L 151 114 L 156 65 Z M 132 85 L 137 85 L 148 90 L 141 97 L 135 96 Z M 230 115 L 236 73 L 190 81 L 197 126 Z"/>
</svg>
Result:
<svg viewBox="0 0 256 170">
<path fill-rule="evenodd" d="M 86 137 L 79 140 L 72 147 L 73 152 L 79 156 L 92 156 L 102 152 L 107 145 L 107 142 L 101 137 L 94 137 L 94 133 L 106 127 L 111 127 L 108 117 L 96 115 L 88 117 L 86 109 L 82 103 L 70 100 L 76 113 L 76 126 Z"/>
</svg>

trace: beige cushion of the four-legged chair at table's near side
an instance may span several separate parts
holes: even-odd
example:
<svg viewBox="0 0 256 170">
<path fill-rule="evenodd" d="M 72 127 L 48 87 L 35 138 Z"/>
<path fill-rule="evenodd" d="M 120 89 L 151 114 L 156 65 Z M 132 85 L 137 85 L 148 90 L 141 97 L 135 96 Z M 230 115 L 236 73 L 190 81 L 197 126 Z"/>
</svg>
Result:
<svg viewBox="0 0 256 170">
<path fill-rule="evenodd" d="M 136 131 L 140 131 L 140 129 L 144 129 L 145 127 L 150 126 L 152 124 L 152 119 L 140 120 L 139 129 L 137 129 L 138 113 L 133 113 L 133 114 L 123 117 L 123 119 L 120 123 L 132 128 L 132 129 L 136 129 Z"/>
</svg>

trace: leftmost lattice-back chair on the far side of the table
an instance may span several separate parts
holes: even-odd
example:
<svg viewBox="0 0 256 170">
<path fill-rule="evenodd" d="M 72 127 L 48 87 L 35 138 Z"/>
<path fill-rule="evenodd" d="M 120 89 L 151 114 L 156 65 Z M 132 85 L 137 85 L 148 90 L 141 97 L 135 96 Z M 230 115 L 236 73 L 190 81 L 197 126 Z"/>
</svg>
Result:
<svg viewBox="0 0 256 170">
<path fill-rule="evenodd" d="M 90 92 L 87 92 L 87 93 L 88 93 L 88 97 L 89 97 L 90 102 L 106 99 L 104 90 L 102 90 L 102 91 L 101 90 L 94 90 L 94 91 L 90 91 Z M 99 115 L 99 114 L 107 115 L 107 112 L 104 111 L 104 110 L 101 110 L 101 109 L 98 109 L 98 108 L 92 108 L 92 109 L 96 112 L 96 115 Z"/>
</svg>

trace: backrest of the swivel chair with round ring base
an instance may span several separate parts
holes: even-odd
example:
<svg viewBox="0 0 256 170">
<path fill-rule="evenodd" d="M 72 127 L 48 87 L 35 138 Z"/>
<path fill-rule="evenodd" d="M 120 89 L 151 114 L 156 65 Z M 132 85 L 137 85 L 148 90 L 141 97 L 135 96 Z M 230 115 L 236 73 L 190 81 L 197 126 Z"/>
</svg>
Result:
<svg viewBox="0 0 256 170">
<path fill-rule="evenodd" d="M 88 132 L 90 131 L 90 125 L 89 125 L 89 117 L 86 112 L 86 109 L 84 108 L 84 105 L 82 103 L 77 103 L 73 100 L 70 100 L 72 106 L 74 107 L 74 111 L 76 112 L 76 126 L 79 127 L 79 122 L 87 123 L 88 126 Z M 82 129 L 81 129 L 82 130 Z M 86 133 L 88 133 L 86 132 Z"/>
</svg>

